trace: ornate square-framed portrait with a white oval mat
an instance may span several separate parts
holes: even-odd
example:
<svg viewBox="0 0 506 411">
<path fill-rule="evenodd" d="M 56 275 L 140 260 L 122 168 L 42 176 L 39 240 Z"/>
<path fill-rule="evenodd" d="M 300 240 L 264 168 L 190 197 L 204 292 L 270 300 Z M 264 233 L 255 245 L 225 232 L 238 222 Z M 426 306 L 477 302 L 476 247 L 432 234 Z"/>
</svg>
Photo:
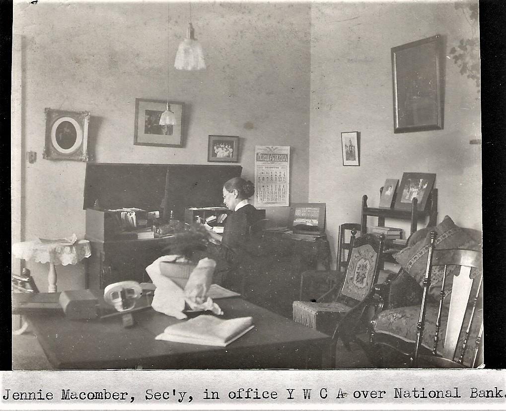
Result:
<svg viewBox="0 0 506 411">
<path fill-rule="evenodd" d="M 46 108 L 46 140 L 42 156 L 50 160 L 89 161 L 89 111 Z"/>
</svg>

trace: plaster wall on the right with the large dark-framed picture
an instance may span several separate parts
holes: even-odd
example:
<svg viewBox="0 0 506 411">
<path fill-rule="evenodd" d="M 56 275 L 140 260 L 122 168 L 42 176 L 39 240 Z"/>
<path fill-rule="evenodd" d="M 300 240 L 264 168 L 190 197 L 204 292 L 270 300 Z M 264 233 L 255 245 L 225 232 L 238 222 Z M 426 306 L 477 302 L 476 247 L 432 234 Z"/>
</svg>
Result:
<svg viewBox="0 0 506 411">
<path fill-rule="evenodd" d="M 445 40 L 444 129 L 394 134 L 391 48 L 435 34 Z M 448 56 L 468 37 L 452 2 L 312 5 L 309 201 L 327 204 L 332 249 L 340 224 L 360 222 L 362 195 L 377 207 L 379 187 L 403 172 L 436 173 L 438 223 L 449 215 L 481 229 L 481 146 L 469 143 L 481 138 L 480 95 Z M 349 131 L 361 135 L 360 167 L 342 163 Z"/>
</svg>

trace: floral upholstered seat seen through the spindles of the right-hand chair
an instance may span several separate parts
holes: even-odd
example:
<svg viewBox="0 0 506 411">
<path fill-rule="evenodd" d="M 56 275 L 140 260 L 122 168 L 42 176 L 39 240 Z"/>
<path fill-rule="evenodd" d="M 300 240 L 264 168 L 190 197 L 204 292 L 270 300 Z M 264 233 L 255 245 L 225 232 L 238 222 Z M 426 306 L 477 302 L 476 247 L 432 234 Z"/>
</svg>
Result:
<svg viewBox="0 0 506 411">
<path fill-rule="evenodd" d="M 466 311 L 465 323 L 467 324 L 471 309 L 468 308 Z M 379 313 L 374 323 L 375 334 L 387 334 L 395 338 L 413 343 L 416 340 L 416 325 L 418 323 L 418 317 L 420 314 L 420 306 L 401 307 L 393 310 L 385 310 Z M 427 306 L 425 314 L 425 330 L 422 335 L 422 345 L 432 351 L 434 346 L 434 335 L 436 333 L 436 320 L 438 315 L 438 306 L 435 304 L 429 304 Z M 441 328 L 439 333 L 438 342 L 438 353 L 441 353 L 442 347 L 444 346 L 446 323 L 448 321 L 448 308 L 444 307 L 441 314 Z M 476 337 L 479 332 L 482 317 L 478 310 L 475 314 L 471 326 L 471 333 L 468 339 L 468 346 L 466 349 L 466 355 L 464 356 L 464 362 L 468 366 L 471 364 L 475 345 Z M 460 355 L 460 348 L 462 345 L 465 330 L 460 333 L 459 341 L 457 344 L 457 356 Z M 413 346 L 414 348 L 414 346 Z"/>
</svg>

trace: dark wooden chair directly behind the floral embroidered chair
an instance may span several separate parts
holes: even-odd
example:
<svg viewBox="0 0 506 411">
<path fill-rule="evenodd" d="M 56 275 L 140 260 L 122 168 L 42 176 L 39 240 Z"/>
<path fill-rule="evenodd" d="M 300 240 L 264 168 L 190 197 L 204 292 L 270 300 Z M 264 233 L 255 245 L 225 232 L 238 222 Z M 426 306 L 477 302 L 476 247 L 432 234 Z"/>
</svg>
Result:
<svg viewBox="0 0 506 411">
<path fill-rule="evenodd" d="M 338 250 L 335 270 L 307 270 L 301 274 L 299 288 L 300 301 L 312 301 L 331 290 L 336 284 L 341 284 L 348 266 L 348 257 L 356 238 L 360 232 L 360 224 L 345 223 L 339 227 Z M 349 240 L 347 239 L 349 238 Z"/>
</svg>

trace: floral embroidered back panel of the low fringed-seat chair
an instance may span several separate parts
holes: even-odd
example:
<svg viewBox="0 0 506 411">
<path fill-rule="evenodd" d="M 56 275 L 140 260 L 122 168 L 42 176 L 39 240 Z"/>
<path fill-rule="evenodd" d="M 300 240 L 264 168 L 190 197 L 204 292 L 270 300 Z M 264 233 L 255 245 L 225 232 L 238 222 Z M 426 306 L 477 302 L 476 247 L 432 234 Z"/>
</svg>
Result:
<svg viewBox="0 0 506 411">
<path fill-rule="evenodd" d="M 377 253 L 371 245 L 364 244 L 352 251 L 346 271 L 342 295 L 362 301 L 371 289 Z"/>
</svg>

